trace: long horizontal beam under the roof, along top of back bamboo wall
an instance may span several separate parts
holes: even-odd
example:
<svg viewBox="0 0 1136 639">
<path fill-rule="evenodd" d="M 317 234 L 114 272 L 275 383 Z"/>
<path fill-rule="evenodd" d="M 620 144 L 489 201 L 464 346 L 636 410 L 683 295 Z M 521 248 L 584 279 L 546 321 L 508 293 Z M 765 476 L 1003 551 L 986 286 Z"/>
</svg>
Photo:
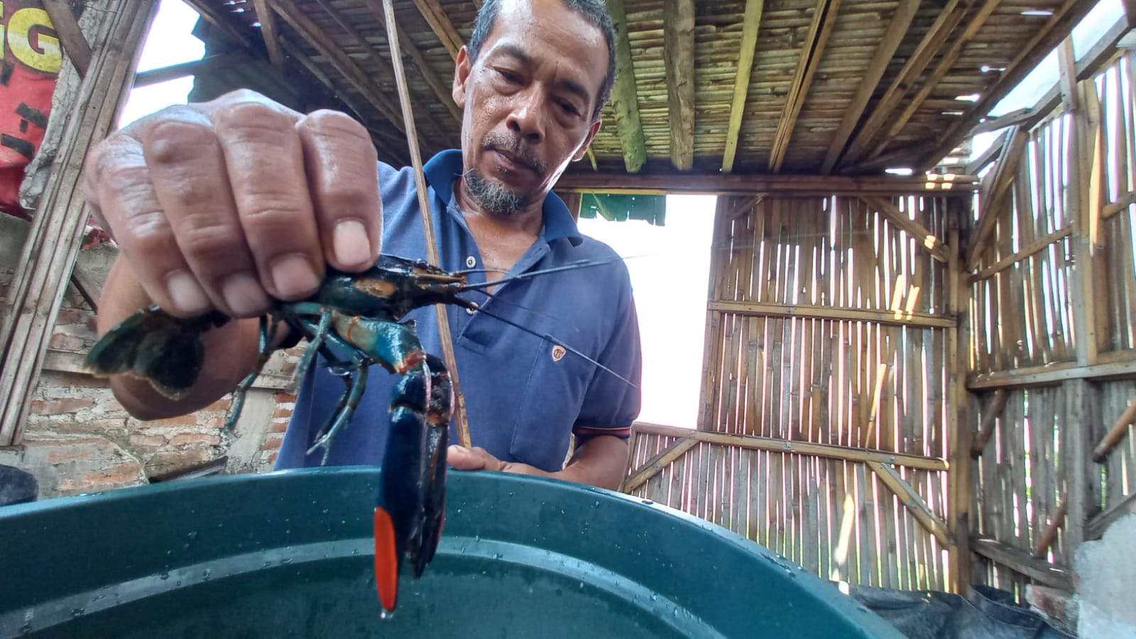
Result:
<svg viewBox="0 0 1136 639">
<path fill-rule="evenodd" d="M 556 188 L 596 193 L 710 193 L 859 196 L 919 194 L 970 196 L 978 181 L 974 175 L 862 175 L 809 176 L 721 173 L 624 173 L 571 172 L 560 176 Z"/>
</svg>

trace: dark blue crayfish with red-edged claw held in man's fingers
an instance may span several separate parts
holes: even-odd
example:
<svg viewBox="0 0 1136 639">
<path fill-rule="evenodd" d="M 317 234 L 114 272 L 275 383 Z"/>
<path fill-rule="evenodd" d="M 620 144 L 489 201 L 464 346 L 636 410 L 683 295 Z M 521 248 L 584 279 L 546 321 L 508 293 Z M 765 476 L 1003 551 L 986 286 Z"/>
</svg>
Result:
<svg viewBox="0 0 1136 639">
<path fill-rule="evenodd" d="M 424 262 L 387 255 L 379 256 L 378 263 L 362 273 L 333 269 L 308 299 L 275 301 L 269 313 L 260 317 L 260 357 L 234 391 L 225 425 L 232 428 L 236 423 L 245 392 L 275 349 L 282 323 L 308 340 L 296 366 L 298 374 L 308 370 L 318 352 L 345 384 L 337 409 L 309 450 L 324 449 L 325 462 L 335 434 L 351 420 L 362 397 L 370 365 L 378 364 L 402 375 L 391 404 L 391 428 L 374 513 L 379 600 L 384 608 L 394 609 L 402 558 L 417 579 L 437 548 L 445 511 L 445 451 L 453 400 L 442 360 L 424 352 L 414 324 L 401 320 L 410 310 L 433 304 L 486 313 L 458 294 L 478 291 L 490 296 L 484 289 L 509 280 L 595 264 L 600 263 L 576 263 L 477 284 L 467 282 L 470 272 L 451 273 Z M 533 333 L 504 317 L 488 315 Z M 157 391 L 176 399 L 194 384 L 200 373 L 203 358 L 200 335 L 228 320 L 216 310 L 178 318 L 156 306 L 140 309 L 108 331 L 92 347 L 86 362 L 95 373 L 127 373 L 145 379 Z M 619 376 L 583 352 L 561 346 Z M 339 352 L 349 356 L 344 358 Z"/>
</svg>

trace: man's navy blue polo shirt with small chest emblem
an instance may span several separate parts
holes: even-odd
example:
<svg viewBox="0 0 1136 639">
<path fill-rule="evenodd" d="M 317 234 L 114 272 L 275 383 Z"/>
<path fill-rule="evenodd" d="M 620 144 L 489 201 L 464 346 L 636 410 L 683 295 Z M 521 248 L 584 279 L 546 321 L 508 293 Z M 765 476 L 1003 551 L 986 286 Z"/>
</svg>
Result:
<svg viewBox="0 0 1136 639">
<path fill-rule="evenodd" d="M 454 180 L 462 173 L 461 152 L 438 153 L 426 164 L 425 173 L 442 267 L 484 268 L 453 197 Z M 425 259 L 426 241 L 412 169 L 379 164 L 378 183 L 383 252 Z M 544 200 L 541 238 L 506 276 L 579 260 L 603 264 L 508 282 L 496 288 L 492 299 L 465 293 L 486 312 L 556 341 L 525 333 L 483 313 L 449 308 L 470 438 L 474 446 L 502 460 L 559 471 L 574 432 L 578 440 L 598 434 L 627 437 L 638 415 L 637 388 L 571 352 L 565 354 L 558 346 L 586 352 L 638 384 L 638 321 L 627 268 L 615 251 L 580 235 L 563 201 L 550 193 Z M 485 275 L 471 274 L 469 281 L 484 282 Z M 408 318 L 416 322 L 426 351 L 441 356 L 434 309 L 416 309 Z M 382 462 L 395 380 L 382 367 L 371 366 L 366 393 L 351 422 L 333 442 L 328 464 Z M 323 453 L 307 455 L 307 449 L 331 418 L 343 390 L 343 380 L 329 373 L 321 358 L 317 360 L 301 385 L 277 468 L 319 465 Z"/>
</svg>

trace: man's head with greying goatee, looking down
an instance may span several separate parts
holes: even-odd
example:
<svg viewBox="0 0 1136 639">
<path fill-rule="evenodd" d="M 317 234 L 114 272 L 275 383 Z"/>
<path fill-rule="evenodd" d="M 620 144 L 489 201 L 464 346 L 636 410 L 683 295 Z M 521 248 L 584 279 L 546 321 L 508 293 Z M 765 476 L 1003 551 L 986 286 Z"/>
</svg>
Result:
<svg viewBox="0 0 1136 639">
<path fill-rule="evenodd" d="M 458 56 L 462 188 L 487 213 L 542 201 L 600 130 L 603 34 L 561 0 L 503 2 L 476 63 Z"/>
</svg>

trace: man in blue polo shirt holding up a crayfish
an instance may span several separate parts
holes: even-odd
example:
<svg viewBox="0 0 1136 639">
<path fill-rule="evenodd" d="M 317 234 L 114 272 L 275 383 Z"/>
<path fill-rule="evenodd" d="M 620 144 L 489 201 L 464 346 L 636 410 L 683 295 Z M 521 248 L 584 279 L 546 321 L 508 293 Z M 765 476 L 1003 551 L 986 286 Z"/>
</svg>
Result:
<svg viewBox="0 0 1136 639">
<path fill-rule="evenodd" d="M 508 282 L 484 307 L 562 339 L 637 382 L 638 332 L 626 269 L 580 238 L 551 189 L 600 128 L 615 75 L 602 0 L 490 0 L 459 53 L 453 98 L 461 151 L 426 167 L 442 266 L 500 279 L 579 259 L 600 266 Z M 94 149 L 85 191 L 123 257 L 103 289 L 99 330 L 154 302 L 175 315 L 210 307 L 244 318 L 206 335 L 204 371 L 173 401 L 140 380 L 111 381 L 140 418 L 199 408 L 252 366 L 269 298 L 301 299 L 325 265 L 361 271 L 379 248 L 424 257 L 409 169 L 378 165 L 367 133 L 342 114 L 302 116 L 248 92 L 144 118 Z M 440 352 L 433 309 L 412 317 Z M 485 314 L 450 313 L 459 375 L 477 448 L 451 447 L 451 465 L 618 486 L 624 438 L 638 413 L 635 387 L 551 340 Z M 391 380 L 376 371 L 331 463 L 378 463 Z M 304 381 L 278 465 L 306 456 L 343 384 L 327 371 Z M 579 446 L 561 468 L 570 433 Z"/>
</svg>

